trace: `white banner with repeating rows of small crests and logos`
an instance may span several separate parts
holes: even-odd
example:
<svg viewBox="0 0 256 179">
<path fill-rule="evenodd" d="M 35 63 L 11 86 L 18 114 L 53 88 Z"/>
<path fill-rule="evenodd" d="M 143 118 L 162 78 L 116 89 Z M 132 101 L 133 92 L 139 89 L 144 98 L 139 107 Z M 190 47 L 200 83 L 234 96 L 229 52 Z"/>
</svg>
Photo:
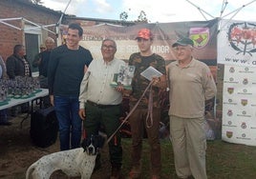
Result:
<svg viewBox="0 0 256 179">
<path fill-rule="evenodd" d="M 256 68 L 224 67 L 223 140 L 256 146 Z"/>
</svg>

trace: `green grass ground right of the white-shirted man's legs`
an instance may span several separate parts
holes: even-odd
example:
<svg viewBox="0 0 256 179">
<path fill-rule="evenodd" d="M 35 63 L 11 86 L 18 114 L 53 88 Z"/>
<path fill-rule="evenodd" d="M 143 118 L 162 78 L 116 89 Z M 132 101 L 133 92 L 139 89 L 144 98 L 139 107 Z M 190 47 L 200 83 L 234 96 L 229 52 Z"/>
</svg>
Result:
<svg viewBox="0 0 256 179">
<path fill-rule="evenodd" d="M 124 173 L 128 173 L 130 164 L 131 140 L 124 139 Z M 148 178 L 149 152 L 143 143 L 142 178 Z M 171 143 L 161 140 L 162 178 L 175 179 L 175 166 Z M 256 147 L 230 144 L 222 140 L 208 141 L 206 151 L 206 169 L 208 179 L 252 179 L 256 178 Z"/>
</svg>

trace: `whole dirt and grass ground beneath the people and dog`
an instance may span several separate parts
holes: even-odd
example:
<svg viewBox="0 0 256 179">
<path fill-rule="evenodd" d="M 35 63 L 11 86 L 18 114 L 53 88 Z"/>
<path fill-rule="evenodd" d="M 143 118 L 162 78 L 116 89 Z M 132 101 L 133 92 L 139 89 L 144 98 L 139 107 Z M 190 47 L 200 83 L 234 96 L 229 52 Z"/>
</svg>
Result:
<svg viewBox="0 0 256 179">
<path fill-rule="evenodd" d="M 26 169 L 41 156 L 58 151 L 57 139 L 53 146 L 41 149 L 32 145 L 30 139 L 30 120 L 26 120 L 20 129 L 20 118 L 13 119 L 10 127 L 0 127 L 0 178 L 25 179 Z M 176 179 L 173 150 L 169 140 L 160 140 L 162 170 L 161 179 Z M 131 139 L 123 138 L 122 173 L 128 175 L 131 161 Z M 143 141 L 142 176 L 149 178 L 149 146 L 147 139 Z M 102 150 L 102 168 L 97 170 L 92 179 L 107 179 L 110 164 L 107 149 Z M 207 142 L 206 169 L 208 179 L 254 179 L 256 178 L 256 147 L 230 144 L 222 140 Z M 75 177 L 73 179 L 78 179 Z M 57 172 L 51 179 L 68 179 Z M 69 178 L 71 179 L 71 178 Z"/>
</svg>

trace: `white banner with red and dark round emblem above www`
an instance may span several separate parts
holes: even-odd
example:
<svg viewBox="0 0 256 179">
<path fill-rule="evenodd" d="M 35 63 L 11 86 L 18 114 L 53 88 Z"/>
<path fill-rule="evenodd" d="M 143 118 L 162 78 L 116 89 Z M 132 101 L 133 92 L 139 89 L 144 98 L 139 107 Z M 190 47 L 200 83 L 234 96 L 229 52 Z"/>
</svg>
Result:
<svg viewBox="0 0 256 179">
<path fill-rule="evenodd" d="M 222 20 L 218 64 L 256 67 L 256 23 Z"/>
</svg>

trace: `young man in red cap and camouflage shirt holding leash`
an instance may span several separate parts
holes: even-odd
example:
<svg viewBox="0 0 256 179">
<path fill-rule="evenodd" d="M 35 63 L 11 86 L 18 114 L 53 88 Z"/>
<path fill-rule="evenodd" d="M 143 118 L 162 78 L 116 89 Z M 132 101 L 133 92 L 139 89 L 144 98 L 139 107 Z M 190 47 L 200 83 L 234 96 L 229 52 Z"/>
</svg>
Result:
<svg viewBox="0 0 256 179">
<path fill-rule="evenodd" d="M 152 80 L 152 97 L 150 102 L 149 91 L 142 98 L 139 106 L 131 114 L 129 122 L 132 131 L 132 169 L 129 173 L 130 178 L 139 178 L 141 172 L 141 149 L 143 129 L 146 130 L 148 142 L 150 145 L 151 158 L 151 177 L 152 179 L 160 178 L 160 89 L 166 88 L 166 70 L 164 59 L 153 53 L 151 46 L 153 44 L 153 34 L 148 29 L 139 30 L 136 37 L 139 46 L 139 52 L 133 53 L 129 58 L 129 65 L 135 66 L 135 75 L 132 81 L 132 91 L 130 91 L 130 109 L 134 108 L 140 96 L 149 85 L 150 81 L 140 75 L 143 70 L 153 67 L 159 70 L 162 75 Z M 152 118 L 148 116 L 150 113 L 149 105 L 153 106 Z"/>
</svg>

